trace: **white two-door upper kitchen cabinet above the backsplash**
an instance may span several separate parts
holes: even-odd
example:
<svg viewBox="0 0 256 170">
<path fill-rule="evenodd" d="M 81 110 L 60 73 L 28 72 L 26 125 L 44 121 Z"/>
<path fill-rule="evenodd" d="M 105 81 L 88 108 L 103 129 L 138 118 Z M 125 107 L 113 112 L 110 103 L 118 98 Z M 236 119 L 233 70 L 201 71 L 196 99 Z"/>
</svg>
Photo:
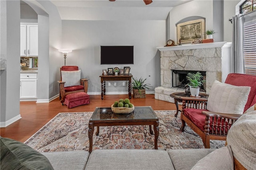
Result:
<svg viewBox="0 0 256 170">
<path fill-rule="evenodd" d="M 38 56 L 38 25 L 20 25 L 20 56 Z"/>
</svg>

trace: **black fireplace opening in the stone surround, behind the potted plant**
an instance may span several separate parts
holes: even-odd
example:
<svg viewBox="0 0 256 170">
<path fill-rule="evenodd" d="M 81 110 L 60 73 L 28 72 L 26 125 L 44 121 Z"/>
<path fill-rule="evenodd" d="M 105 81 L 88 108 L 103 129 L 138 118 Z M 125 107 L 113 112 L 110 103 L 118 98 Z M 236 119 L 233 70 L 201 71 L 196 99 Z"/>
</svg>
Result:
<svg viewBox="0 0 256 170">
<path fill-rule="evenodd" d="M 198 71 L 172 70 L 172 87 L 185 89 L 186 84 L 188 84 L 186 76 L 189 72 L 196 73 Z M 204 76 L 204 80 L 206 80 L 206 71 L 199 71 L 199 72 Z M 200 91 L 206 92 L 206 84 L 200 87 Z"/>
</svg>

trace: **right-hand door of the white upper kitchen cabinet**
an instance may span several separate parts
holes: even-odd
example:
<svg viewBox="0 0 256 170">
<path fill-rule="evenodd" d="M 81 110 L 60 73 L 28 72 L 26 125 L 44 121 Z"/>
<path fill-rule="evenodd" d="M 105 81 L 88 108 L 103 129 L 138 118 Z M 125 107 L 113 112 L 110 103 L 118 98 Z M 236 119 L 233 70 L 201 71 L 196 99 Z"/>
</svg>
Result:
<svg viewBox="0 0 256 170">
<path fill-rule="evenodd" d="M 27 56 L 38 56 L 38 25 L 27 25 Z"/>
</svg>

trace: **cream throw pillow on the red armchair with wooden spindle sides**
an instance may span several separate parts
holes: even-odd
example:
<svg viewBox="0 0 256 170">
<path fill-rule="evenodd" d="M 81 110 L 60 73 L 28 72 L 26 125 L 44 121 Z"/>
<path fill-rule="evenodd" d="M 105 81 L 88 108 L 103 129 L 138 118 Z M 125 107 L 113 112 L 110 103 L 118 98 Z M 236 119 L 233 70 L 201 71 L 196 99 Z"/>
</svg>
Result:
<svg viewBox="0 0 256 170">
<path fill-rule="evenodd" d="M 243 114 L 251 87 L 233 86 L 214 81 L 212 85 L 207 109 L 218 113 Z"/>
</svg>

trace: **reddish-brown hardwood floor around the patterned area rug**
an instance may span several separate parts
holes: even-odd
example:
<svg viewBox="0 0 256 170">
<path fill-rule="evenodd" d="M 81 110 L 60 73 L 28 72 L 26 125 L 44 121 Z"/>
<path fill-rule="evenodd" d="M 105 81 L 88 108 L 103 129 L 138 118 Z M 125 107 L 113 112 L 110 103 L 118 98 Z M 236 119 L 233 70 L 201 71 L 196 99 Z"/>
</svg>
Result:
<svg viewBox="0 0 256 170">
<path fill-rule="evenodd" d="M 110 107 L 120 98 L 128 98 L 128 95 L 106 95 L 104 96 L 104 100 L 101 100 L 100 95 L 90 95 L 90 104 L 70 109 L 66 105 L 62 106 L 59 98 L 49 103 L 36 103 L 35 101 L 20 102 L 20 115 L 22 119 L 12 123 L 8 127 L 1 128 L 0 135 L 25 142 L 58 113 L 94 111 L 95 107 Z M 154 110 L 176 110 L 175 104 L 156 100 L 154 99 L 154 94 L 147 94 L 146 98 L 141 99 L 131 98 L 130 102 L 134 106 L 151 106 Z M 180 105 L 179 109 L 181 109 Z"/>
</svg>

